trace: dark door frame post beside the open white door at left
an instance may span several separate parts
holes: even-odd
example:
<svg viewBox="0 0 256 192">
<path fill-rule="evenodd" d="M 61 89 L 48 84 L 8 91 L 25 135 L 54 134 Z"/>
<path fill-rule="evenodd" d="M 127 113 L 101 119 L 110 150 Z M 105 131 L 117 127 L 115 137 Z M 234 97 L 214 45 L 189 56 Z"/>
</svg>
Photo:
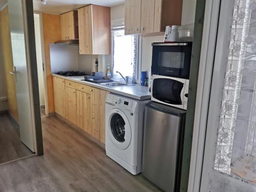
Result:
<svg viewBox="0 0 256 192">
<path fill-rule="evenodd" d="M 41 111 L 38 88 L 38 75 L 36 65 L 35 29 L 33 0 L 21 0 L 24 11 L 25 46 L 27 49 L 27 65 L 29 68 L 29 89 L 31 95 L 31 110 L 34 126 L 35 155 L 44 155 L 42 143 Z M 32 65 L 33 63 L 33 65 Z"/>
</svg>

